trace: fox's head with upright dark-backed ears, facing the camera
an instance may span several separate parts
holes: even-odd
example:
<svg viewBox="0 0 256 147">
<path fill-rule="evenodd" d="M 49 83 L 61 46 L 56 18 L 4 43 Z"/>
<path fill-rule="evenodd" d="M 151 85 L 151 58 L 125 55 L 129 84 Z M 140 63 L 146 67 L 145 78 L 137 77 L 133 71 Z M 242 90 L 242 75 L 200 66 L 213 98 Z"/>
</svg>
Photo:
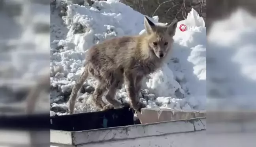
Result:
<svg viewBox="0 0 256 147">
<path fill-rule="evenodd" d="M 158 26 L 145 17 L 144 25 L 149 48 L 158 58 L 164 58 L 173 44 L 177 19 L 173 20 L 168 26 Z"/>
</svg>

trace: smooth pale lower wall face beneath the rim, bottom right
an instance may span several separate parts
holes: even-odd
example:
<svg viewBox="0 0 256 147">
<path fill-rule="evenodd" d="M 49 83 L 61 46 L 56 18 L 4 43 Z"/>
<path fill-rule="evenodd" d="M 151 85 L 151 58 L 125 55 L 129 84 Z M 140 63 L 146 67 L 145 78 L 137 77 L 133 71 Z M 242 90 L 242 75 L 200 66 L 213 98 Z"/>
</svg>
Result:
<svg viewBox="0 0 256 147">
<path fill-rule="evenodd" d="M 206 131 L 151 136 L 82 145 L 81 147 L 206 147 L 201 141 Z M 68 147 L 68 146 L 58 146 Z"/>
</svg>

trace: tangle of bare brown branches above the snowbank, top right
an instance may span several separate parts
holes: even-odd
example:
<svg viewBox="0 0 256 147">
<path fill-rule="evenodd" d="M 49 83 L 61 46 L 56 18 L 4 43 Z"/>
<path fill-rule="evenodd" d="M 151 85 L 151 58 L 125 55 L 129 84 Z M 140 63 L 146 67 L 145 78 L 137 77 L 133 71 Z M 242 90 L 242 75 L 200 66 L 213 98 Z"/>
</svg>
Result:
<svg viewBox="0 0 256 147">
<path fill-rule="evenodd" d="M 122 0 L 122 2 L 149 17 L 158 15 L 160 22 L 169 22 L 174 17 L 179 20 L 186 19 L 192 8 L 200 17 L 206 17 L 206 0 Z"/>
</svg>

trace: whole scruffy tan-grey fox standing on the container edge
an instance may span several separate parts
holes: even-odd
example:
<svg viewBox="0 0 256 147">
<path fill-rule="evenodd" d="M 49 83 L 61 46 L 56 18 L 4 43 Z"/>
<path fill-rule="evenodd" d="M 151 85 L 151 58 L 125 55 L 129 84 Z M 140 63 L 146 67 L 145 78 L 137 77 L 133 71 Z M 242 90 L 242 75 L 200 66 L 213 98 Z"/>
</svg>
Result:
<svg viewBox="0 0 256 147">
<path fill-rule="evenodd" d="M 145 108 L 139 102 L 143 78 L 158 70 L 172 50 L 177 19 L 169 25 L 156 25 L 144 17 L 145 32 L 134 36 L 107 39 L 87 50 L 84 70 L 70 94 L 69 114 L 73 114 L 75 99 L 88 76 L 98 81 L 92 93 L 92 102 L 100 110 L 130 107 L 136 111 Z M 128 102 L 115 99 L 117 89 L 125 84 Z M 102 100 L 103 94 L 109 104 Z"/>
</svg>

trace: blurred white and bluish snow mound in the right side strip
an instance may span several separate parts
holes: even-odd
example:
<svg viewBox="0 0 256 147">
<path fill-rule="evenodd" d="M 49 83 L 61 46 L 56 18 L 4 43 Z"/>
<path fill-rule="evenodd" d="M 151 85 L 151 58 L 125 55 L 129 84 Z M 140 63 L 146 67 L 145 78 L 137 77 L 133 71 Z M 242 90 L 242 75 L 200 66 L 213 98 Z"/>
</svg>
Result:
<svg viewBox="0 0 256 147">
<path fill-rule="evenodd" d="M 255 23 L 255 17 L 238 9 L 230 18 L 216 22 L 209 32 L 207 90 L 209 98 L 218 98 L 218 106 L 255 108 Z"/>
</svg>

